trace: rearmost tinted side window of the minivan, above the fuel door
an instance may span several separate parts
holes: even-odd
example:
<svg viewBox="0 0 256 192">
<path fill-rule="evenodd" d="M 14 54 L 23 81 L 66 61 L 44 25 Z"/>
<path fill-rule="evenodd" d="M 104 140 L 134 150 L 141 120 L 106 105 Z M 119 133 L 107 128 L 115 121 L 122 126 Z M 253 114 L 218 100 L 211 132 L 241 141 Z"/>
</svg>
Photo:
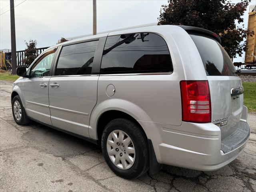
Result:
<svg viewBox="0 0 256 192">
<path fill-rule="evenodd" d="M 108 36 L 102 55 L 101 74 L 171 72 L 166 42 L 152 33 Z"/>
</svg>

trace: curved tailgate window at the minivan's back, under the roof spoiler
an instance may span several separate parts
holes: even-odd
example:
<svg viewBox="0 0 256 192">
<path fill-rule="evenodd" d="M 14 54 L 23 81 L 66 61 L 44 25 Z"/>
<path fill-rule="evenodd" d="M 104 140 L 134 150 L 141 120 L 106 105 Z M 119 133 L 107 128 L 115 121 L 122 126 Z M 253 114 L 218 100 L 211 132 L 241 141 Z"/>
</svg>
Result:
<svg viewBox="0 0 256 192">
<path fill-rule="evenodd" d="M 232 60 L 216 40 L 196 34 L 190 36 L 202 58 L 206 75 L 237 76 Z"/>
</svg>

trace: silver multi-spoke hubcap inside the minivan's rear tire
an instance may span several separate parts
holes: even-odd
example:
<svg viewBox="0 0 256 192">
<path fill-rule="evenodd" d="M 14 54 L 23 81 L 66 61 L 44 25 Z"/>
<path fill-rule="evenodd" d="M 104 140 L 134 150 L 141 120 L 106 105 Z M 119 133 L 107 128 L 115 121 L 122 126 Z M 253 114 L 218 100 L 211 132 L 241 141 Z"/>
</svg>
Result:
<svg viewBox="0 0 256 192">
<path fill-rule="evenodd" d="M 122 130 L 114 130 L 108 135 L 108 156 L 120 169 L 129 169 L 135 161 L 135 148 L 132 139 Z"/>
</svg>

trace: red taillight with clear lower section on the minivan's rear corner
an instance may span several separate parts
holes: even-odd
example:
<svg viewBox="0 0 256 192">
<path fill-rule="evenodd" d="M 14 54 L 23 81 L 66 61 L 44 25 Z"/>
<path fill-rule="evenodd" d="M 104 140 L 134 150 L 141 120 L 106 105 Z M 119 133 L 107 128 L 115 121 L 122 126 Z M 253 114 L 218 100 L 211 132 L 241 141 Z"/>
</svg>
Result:
<svg viewBox="0 0 256 192">
<path fill-rule="evenodd" d="M 208 81 L 181 81 L 182 121 L 211 122 L 211 99 Z"/>
</svg>

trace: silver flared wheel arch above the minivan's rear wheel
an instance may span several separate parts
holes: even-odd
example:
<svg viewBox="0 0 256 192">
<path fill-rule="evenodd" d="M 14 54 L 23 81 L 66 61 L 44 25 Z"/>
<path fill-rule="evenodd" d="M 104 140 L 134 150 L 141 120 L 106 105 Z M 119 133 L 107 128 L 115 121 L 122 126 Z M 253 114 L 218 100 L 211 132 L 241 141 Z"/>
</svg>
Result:
<svg viewBox="0 0 256 192">
<path fill-rule="evenodd" d="M 136 120 L 152 121 L 148 114 L 136 104 L 123 99 L 108 99 L 97 104 L 92 110 L 90 116 L 89 136 L 95 140 L 98 139 L 97 125 L 100 116 L 109 110 L 118 110 L 132 116 Z M 144 129 L 144 128 L 143 128 Z M 144 130 L 146 132 L 146 130 Z"/>
</svg>

